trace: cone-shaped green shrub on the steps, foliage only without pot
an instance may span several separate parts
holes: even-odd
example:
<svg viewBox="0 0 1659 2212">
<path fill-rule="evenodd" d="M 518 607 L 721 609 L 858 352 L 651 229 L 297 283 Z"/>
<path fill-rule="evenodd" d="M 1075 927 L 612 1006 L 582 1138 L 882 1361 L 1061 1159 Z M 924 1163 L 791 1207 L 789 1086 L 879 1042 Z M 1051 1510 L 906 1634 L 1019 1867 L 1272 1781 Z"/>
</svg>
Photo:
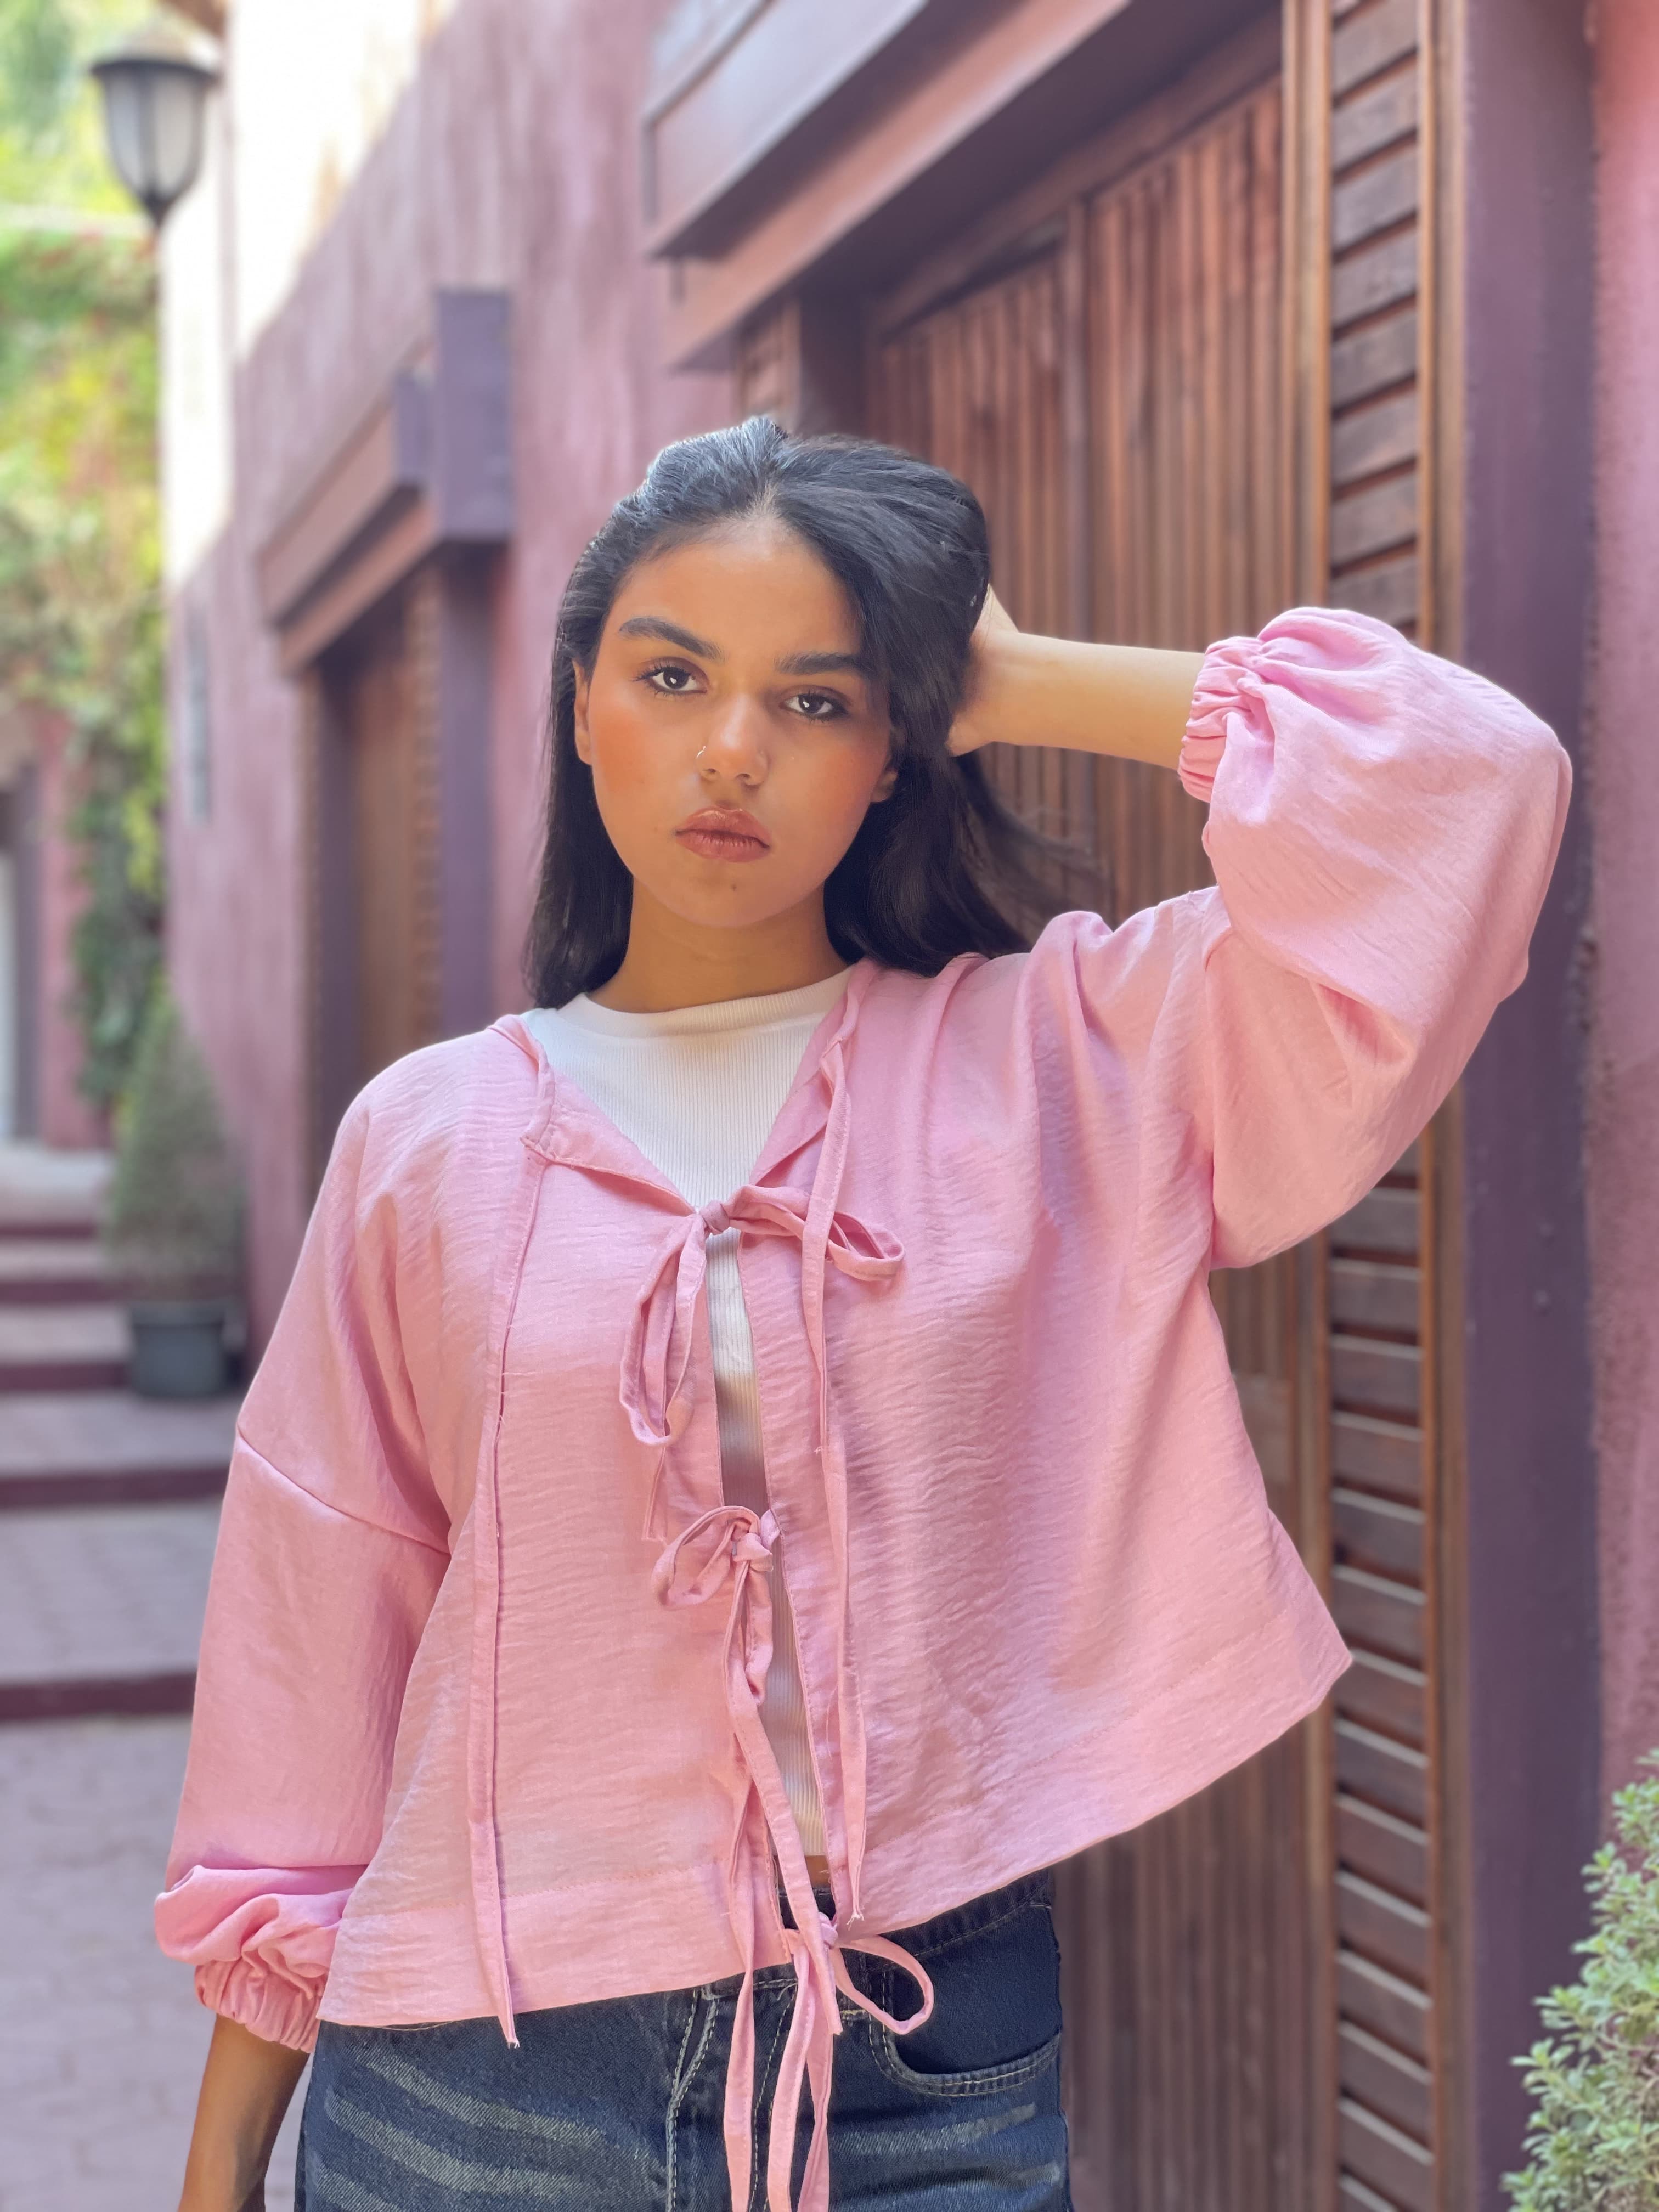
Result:
<svg viewBox="0 0 1659 2212">
<path fill-rule="evenodd" d="M 159 989 L 119 1117 L 104 1245 L 139 1296 L 226 1296 L 241 1283 L 241 1214 L 212 1077 Z"/>
</svg>

